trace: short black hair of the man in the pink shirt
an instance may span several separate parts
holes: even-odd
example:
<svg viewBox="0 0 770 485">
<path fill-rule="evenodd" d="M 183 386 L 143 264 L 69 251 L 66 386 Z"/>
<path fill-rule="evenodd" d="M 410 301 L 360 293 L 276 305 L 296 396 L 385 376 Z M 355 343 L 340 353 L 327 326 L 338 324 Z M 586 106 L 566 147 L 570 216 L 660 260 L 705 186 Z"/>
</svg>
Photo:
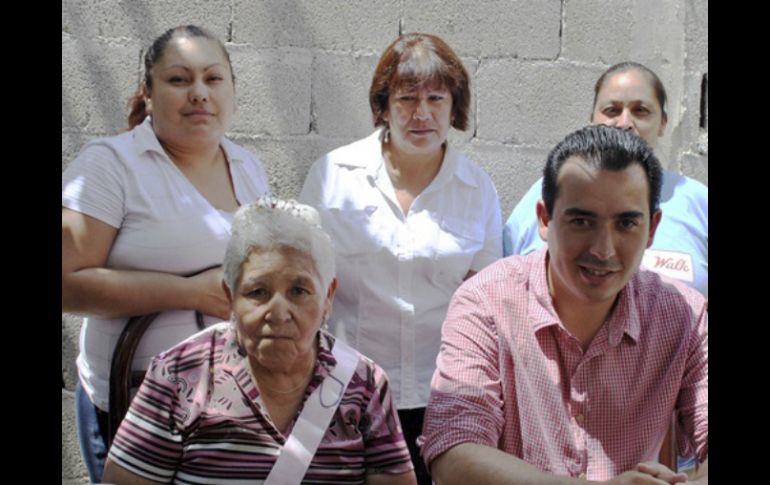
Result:
<svg viewBox="0 0 770 485">
<path fill-rule="evenodd" d="M 644 169 L 650 189 L 650 217 L 655 213 L 663 184 L 663 169 L 655 153 L 647 142 L 627 130 L 592 125 L 570 133 L 548 154 L 543 169 L 542 192 L 548 217 L 553 217 L 553 207 L 559 195 L 559 171 L 570 157 L 580 157 L 596 169 L 615 172 L 638 163 Z"/>
</svg>

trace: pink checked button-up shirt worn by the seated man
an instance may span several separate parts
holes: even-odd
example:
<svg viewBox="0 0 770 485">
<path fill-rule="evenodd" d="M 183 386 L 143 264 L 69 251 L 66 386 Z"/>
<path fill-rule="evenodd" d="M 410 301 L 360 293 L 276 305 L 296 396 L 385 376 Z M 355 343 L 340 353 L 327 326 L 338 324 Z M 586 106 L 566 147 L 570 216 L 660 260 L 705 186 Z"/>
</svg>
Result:
<svg viewBox="0 0 770 485">
<path fill-rule="evenodd" d="M 704 460 L 703 296 L 641 271 L 584 352 L 553 308 L 546 254 L 502 259 L 453 296 L 425 415 L 426 463 L 470 442 L 545 472 L 607 480 L 657 460 L 674 409 L 682 446 Z"/>
</svg>

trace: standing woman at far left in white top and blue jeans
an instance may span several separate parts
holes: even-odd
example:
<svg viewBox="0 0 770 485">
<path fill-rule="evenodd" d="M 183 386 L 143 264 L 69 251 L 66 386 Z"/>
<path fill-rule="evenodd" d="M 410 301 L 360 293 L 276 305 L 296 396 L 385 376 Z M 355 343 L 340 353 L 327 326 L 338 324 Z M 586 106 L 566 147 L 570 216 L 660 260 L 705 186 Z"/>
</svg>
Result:
<svg viewBox="0 0 770 485">
<path fill-rule="evenodd" d="M 232 215 L 269 191 L 261 162 L 224 138 L 234 92 L 215 36 L 170 29 L 145 55 L 130 131 L 89 143 L 62 174 L 62 311 L 87 316 L 76 415 L 92 481 L 107 453 L 110 361 L 128 317 L 162 312 L 133 370 L 194 334 L 195 311 L 207 323 L 229 317 L 219 265 Z"/>
</svg>

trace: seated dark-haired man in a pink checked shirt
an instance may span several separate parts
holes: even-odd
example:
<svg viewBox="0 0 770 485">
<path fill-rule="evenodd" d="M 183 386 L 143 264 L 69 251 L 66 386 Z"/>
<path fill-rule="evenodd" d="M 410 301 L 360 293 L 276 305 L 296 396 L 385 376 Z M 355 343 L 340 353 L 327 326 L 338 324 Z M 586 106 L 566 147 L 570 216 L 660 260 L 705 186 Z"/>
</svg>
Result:
<svg viewBox="0 0 770 485">
<path fill-rule="evenodd" d="M 455 293 L 423 429 L 439 484 L 666 484 L 680 453 L 708 483 L 703 296 L 639 270 L 661 219 L 661 167 L 630 132 L 591 126 L 549 154 L 547 248 L 493 263 Z"/>
</svg>

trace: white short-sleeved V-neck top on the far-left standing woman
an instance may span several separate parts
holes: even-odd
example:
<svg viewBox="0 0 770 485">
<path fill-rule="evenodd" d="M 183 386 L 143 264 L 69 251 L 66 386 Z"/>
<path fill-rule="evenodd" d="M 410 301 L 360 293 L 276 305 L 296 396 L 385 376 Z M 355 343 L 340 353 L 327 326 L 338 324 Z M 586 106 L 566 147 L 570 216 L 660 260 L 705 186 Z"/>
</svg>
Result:
<svg viewBox="0 0 770 485">
<path fill-rule="evenodd" d="M 221 146 L 239 204 L 269 192 L 258 159 L 227 139 Z M 62 207 L 119 229 L 107 268 L 190 274 L 221 264 L 230 239 L 232 217 L 213 207 L 168 158 L 150 118 L 83 148 L 62 174 Z M 80 332 L 80 381 L 103 410 L 108 409 L 110 361 L 126 321 L 87 318 Z M 155 354 L 197 330 L 193 311 L 164 312 L 144 334 L 132 368 L 147 369 Z"/>
</svg>

